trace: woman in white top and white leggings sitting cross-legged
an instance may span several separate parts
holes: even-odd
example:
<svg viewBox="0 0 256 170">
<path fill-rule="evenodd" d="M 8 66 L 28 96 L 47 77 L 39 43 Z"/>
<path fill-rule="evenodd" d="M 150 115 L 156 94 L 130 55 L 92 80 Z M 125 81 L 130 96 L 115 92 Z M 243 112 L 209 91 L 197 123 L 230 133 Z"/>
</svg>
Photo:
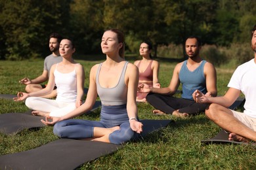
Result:
<svg viewBox="0 0 256 170">
<path fill-rule="evenodd" d="M 74 43 L 70 39 L 60 42 L 60 56 L 62 62 L 51 67 L 47 87 L 33 93 L 18 92 L 14 101 L 26 99 L 26 106 L 34 110 L 33 115 L 60 117 L 75 110 L 81 105 L 85 80 L 83 66 L 72 58 L 75 52 Z M 56 100 L 38 97 L 47 95 L 57 86 Z"/>
</svg>

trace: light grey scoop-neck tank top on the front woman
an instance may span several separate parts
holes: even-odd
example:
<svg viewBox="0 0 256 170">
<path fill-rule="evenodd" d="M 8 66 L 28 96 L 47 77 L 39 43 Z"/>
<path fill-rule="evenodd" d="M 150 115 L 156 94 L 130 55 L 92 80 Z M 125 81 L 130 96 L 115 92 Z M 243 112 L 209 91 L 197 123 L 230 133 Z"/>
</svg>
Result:
<svg viewBox="0 0 256 170">
<path fill-rule="evenodd" d="M 96 73 L 96 87 L 97 93 L 100 97 L 102 105 L 124 105 L 127 103 L 127 86 L 125 84 L 125 71 L 128 65 L 128 61 L 125 61 L 121 76 L 114 88 L 102 88 L 98 81 L 98 76 L 100 73 L 100 68 L 102 63 L 98 66 L 98 71 Z"/>
</svg>

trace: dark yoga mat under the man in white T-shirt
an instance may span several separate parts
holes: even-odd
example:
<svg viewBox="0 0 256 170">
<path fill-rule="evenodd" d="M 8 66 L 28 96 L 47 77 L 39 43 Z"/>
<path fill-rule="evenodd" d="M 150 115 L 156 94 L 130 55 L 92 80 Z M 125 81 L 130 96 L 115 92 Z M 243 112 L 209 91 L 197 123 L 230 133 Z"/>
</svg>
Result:
<svg viewBox="0 0 256 170">
<path fill-rule="evenodd" d="M 205 139 L 201 142 L 205 144 L 210 144 L 210 143 L 247 144 L 247 143 L 236 142 L 236 141 L 228 141 L 228 133 L 226 133 L 223 129 L 221 129 L 221 131 L 215 137 L 211 139 Z"/>
</svg>

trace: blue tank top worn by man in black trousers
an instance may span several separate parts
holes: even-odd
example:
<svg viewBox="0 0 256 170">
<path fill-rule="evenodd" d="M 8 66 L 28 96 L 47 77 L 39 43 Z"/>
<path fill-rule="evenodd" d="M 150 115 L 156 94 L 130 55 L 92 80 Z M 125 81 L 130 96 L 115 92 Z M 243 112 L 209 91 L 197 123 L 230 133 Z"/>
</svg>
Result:
<svg viewBox="0 0 256 170">
<path fill-rule="evenodd" d="M 196 68 L 194 71 L 189 71 L 186 67 L 188 60 L 185 60 L 181 66 L 181 71 L 179 73 L 179 79 L 182 84 L 182 95 L 184 99 L 193 99 L 192 93 L 195 90 L 200 90 L 202 93 L 206 93 L 206 82 L 205 76 L 203 74 L 203 67 L 206 63 L 205 60 Z"/>
</svg>

